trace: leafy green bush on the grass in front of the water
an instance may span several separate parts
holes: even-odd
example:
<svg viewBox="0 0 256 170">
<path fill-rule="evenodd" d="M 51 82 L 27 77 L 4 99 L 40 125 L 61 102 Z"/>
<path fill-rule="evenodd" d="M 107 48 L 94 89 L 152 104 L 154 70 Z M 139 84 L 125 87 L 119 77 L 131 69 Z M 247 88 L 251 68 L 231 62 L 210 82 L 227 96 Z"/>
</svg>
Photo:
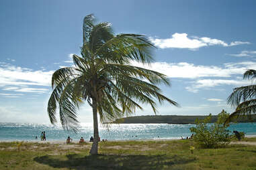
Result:
<svg viewBox="0 0 256 170">
<path fill-rule="evenodd" d="M 194 133 L 194 141 L 204 148 L 218 148 L 228 145 L 230 143 L 230 137 L 228 135 L 227 125 L 223 122 L 226 120 L 226 113 L 224 110 L 218 114 L 218 120 L 214 124 L 210 125 L 212 115 L 210 114 L 204 120 L 196 120 L 196 127 L 191 127 L 191 133 Z"/>
</svg>

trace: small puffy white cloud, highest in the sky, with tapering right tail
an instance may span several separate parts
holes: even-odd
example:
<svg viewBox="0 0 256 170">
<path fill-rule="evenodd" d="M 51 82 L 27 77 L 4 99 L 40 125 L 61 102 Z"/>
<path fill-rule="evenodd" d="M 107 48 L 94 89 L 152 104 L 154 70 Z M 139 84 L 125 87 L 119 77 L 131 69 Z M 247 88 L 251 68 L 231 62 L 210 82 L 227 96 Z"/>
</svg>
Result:
<svg viewBox="0 0 256 170">
<path fill-rule="evenodd" d="M 204 46 L 237 46 L 241 44 L 250 44 L 247 41 L 232 41 L 230 44 L 210 37 L 187 37 L 187 33 L 174 33 L 171 38 L 159 39 L 151 37 L 150 40 L 159 48 L 188 48 L 196 50 Z"/>
</svg>

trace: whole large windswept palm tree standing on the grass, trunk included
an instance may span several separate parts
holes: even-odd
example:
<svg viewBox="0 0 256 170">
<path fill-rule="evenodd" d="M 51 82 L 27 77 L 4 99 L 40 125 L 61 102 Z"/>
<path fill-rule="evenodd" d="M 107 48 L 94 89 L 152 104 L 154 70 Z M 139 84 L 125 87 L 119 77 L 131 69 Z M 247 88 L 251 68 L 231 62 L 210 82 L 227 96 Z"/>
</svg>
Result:
<svg viewBox="0 0 256 170">
<path fill-rule="evenodd" d="M 81 56 L 73 55 L 75 66 L 60 68 L 52 74 L 52 94 L 48 100 L 50 122 L 56 122 L 59 108 L 63 129 L 77 131 L 77 108 L 87 101 L 93 109 L 93 145 L 91 155 L 97 154 L 99 139 L 97 114 L 103 125 L 116 118 L 128 116 L 138 102 L 150 104 L 157 112 L 156 98 L 160 103 L 173 100 L 163 96 L 158 84 L 169 85 L 164 74 L 131 66 L 135 60 L 150 64 L 154 46 L 144 35 L 112 33 L 110 23 L 97 23 L 93 15 L 83 20 L 83 46 Z"/>
</svg>

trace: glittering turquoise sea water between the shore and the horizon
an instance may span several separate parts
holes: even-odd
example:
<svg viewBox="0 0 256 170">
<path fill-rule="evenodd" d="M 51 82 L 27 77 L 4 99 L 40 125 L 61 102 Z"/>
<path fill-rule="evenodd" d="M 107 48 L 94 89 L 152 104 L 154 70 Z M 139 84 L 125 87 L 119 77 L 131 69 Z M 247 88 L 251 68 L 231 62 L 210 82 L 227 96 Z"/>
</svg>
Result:
<svg viewBox="0 0 256 170">
<path fill-rule="evenodd" d="M 93 136 L 93 124 L 81 124 L 79 133 L 67 133 L 62 126 L 52 124 L 21 124 L 1 123 L 0 141 L 34 141 L 40 137 L 41 131 L 46 132 L 46 140 L 62 141 L 70 136 L 73 139 L 83 137 L 89 140 Z M 136 139 L 179 139 L 191 135 L 189 128 L 195 124 L 112 124 L 109 131 L 99 127 L 101 139 L 108 140 L 136 140 Z M 256 135 L 256 123 L 231 124 L 230 131 L 244 131 L 246 135 Z M 38 139 L 39 140 L 39 139 Z"/>
</svg>

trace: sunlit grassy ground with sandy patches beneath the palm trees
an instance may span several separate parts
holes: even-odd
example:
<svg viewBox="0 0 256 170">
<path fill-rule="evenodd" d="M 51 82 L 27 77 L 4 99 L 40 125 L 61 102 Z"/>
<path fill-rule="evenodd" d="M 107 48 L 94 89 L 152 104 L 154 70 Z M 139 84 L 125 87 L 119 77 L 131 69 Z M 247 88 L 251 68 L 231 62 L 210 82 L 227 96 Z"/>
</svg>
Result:
<svg viewBox="0 0 256 170">
<path fill-rule="evenodd" d="M 90 147 L 23 143 L 19 151 L 17 143 L 0 143 L 0 169 L 256 169 L 251 145 L 199 149 L 190 140 L 108 141 L 99 143 L 97 156 L 89 155 Z"/>
</svg>

